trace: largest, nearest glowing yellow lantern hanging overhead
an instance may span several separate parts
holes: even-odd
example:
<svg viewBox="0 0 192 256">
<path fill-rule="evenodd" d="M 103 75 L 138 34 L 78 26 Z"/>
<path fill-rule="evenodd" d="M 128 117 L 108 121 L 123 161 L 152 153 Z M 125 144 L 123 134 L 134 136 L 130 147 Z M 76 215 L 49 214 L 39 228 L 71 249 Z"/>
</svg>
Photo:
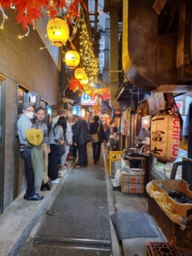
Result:
<svg viewBox="0 0 192 256">
<path fill-rule="evenodd" d="M 47 25 L 48 39 L 53 42 L 55 46 L 62 46 L 69 36 L 69 29 L 64 19 L 56 17 L 50 19 Z"/>
</svg>

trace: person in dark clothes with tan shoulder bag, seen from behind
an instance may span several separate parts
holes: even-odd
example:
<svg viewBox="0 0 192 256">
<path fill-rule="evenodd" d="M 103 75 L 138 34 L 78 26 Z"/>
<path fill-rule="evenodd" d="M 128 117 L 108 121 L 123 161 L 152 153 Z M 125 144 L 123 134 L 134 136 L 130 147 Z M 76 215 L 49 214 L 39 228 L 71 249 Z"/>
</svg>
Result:
<svg viewBox="0 0 192 256">
<path fill-rule="evenodd" d="M 93 122 L 90 123 L 89 132 L 90 134 L 96 134 L 98 135 L 98 141 L 92 142 L 92 149 L 93 149 L 93 160 L 94 164 L 97 164 L 97 161 L 100 160 L 100 146 L 102 142 L 105 142 L 105 134 L 103 129 L 103 124 L 100 124 L 99 116 L 95 115 L 93 117 Z"/>
</svg>

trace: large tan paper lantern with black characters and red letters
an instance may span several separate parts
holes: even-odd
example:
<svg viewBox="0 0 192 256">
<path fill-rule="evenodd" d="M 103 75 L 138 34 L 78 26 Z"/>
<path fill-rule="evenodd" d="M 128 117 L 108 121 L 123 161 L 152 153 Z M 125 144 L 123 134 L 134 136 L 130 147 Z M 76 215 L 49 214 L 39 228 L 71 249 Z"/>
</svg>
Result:
<svg viewBox="0 0 192 256">
<path fill-rule="evenodd" d="M 151 119 L 150 153 L 161 162 L 173 162 L 179 153 L 180 121 L 175 115 L 159 114 Z"/>
</svg>

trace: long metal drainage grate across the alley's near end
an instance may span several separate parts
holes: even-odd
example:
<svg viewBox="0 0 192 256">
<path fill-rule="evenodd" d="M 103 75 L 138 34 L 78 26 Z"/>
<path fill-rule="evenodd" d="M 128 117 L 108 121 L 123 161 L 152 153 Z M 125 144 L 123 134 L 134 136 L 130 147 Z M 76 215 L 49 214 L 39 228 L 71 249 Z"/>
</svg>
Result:
<svg viewBox="0 0 192 256">
<path fill-rule="evenodd" d="M 35 238 L 33 246 L 73 247 L 76 249 L 89 249 L 105 252 L 111 251 L 111 241 L 109 240 Z"/>
</svg>

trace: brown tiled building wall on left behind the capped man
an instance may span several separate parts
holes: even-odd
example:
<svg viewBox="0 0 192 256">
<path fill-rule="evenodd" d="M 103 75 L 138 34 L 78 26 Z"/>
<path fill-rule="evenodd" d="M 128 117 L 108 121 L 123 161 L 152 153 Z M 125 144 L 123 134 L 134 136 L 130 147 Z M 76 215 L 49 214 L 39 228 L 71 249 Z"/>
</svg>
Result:
<svg viewBox="0 0 192 256">
<path fill-rule="evenodd" d="M 60 72 L 38 33 L 31 28 L 28 37 L 21 25 L 16 25 L 13 10 L 6 11 L 8 19 L 0 31 L 0 74 L 5 80 L 5 139 L 4 139 L 4 208 L 21 193 L 25 187 L 25 170 L 19 158 L 19 144 L 16 136 L 17 89 L 18 84 L 35 92 L 52 104 L 57 104 Z M 46 31 L 45 31 L 46 33 Z"/>
</svg>

